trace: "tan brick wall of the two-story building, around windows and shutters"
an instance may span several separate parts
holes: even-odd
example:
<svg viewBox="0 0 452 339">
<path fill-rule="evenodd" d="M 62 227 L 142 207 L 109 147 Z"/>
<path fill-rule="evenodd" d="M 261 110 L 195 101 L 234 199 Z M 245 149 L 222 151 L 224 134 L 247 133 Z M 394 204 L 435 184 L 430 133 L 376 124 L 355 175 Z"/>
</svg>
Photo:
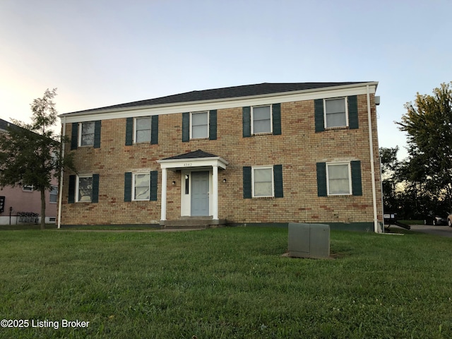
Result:
<svg viewBox="0 0 452 339">
<path fill-rule="evenodd" d="M 376 203 L 381 215 L 379 147 L 371 95 Z M 373 222 L 367 97 L 358 95 L 359 129 L 314 131 L 314 101 L 281 104 L 282 135 L 242 137 L 242 107 L 218 109 L 218 139 L 182 142 L 182 114 L 159 116 L 158 144 L 125 146 L 126 119 L 102 120 L 100 148 L 78 148 L 78 174 L 100 174 L 98 203 L 68 203 L 64 174 L 63 225 L 148 224 L 160 220 L 161 170 L 156 160 L 194 150 L 230 165 L 218 175 L 218 214 L 229 222 Z M 95 119 L 95 118 L 94 118 Z M 66 126 L 70 134 L 71 124 Z M 66 145 L 66 152 L 69 152 Z M 316 162 L 360 160 L 362 196 L 317 196 Z M 283 165 L 283 198 L 243 198 L 243 166 Z M 157 201 L 124 202 L 124 172 L 158 170 Z M 167 172 L 167 220 L 181 213 L 180 173 Z M 226 182 L 223 182 L 226 179 Z M 172 182 L 176 182 L 172 185 Z"/>
</svg>

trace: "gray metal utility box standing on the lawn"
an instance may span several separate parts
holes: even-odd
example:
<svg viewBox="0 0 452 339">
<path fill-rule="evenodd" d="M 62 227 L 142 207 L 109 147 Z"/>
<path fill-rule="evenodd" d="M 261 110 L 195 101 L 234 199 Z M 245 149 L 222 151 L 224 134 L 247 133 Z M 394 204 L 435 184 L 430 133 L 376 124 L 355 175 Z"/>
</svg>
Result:
<svg viewBox="0 0 452 339">
<path fill-rule="evenodd" d="M 289 223 L 289 256 L 330 257 L 330 225 Z"/>
</svg>

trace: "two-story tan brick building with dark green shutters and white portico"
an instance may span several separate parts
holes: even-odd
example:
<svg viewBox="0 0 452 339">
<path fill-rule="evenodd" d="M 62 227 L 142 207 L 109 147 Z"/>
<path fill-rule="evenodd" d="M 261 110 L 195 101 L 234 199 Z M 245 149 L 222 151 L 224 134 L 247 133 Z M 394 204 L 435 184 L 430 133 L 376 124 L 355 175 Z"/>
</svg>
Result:
<svg viewBox="0 0 452 339">
<path fill-rule="evenodd" d="M 61 114 L 77 169 L 64 173 L 61 226 L 380 232 L 377 85 L 261 83 Z"/>
</svg>

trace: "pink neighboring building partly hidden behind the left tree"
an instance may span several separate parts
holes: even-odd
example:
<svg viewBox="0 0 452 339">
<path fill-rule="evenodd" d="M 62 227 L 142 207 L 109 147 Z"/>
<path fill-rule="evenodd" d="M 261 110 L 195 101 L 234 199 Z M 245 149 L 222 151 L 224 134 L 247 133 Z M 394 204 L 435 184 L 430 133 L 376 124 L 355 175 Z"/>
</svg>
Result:
<svg viewBox="0 0 452 339">
<path fill-rule="evenodd" d="M 11 122 L 0 119 L 0 133 L 8 133 L 8 128 L 13 127 Z M 16 126 L 18 128 L 18 126 Z M 1 200 L 4 197 L 4 206 L 0 211 L 0 225 L 16 225 L 23 222 L 34 222 L 32 216 L 23 215 L 18 217 L 18 213 L 34 213 L 40 215 L 41 213 L 41 194 L 40 191 L 35 191 L 32 186 L 23 187 L 11 187 L 6 186 L 3 189 L 0 188 L 0 205 Z M 52 191 L 46 191 L 45 193 L 45 215 L 46 222 L 55 222 L 57 218 L 57 201 L 58 201 L 58 180 L 53 179 Z M 10 218 L 11 215 L 11 218 Z M 40 220 L 38 218 L 38 220 Z"/>
</svg>

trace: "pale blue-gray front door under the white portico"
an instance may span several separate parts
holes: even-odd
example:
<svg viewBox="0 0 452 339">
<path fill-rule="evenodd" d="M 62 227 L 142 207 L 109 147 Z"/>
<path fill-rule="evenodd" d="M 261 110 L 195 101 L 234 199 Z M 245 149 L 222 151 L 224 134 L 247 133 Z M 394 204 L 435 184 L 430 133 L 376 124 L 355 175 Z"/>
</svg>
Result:
<svg viewBox="0 0 452 339">
<path fill-rule="evenodd" d="M 209 174 L 191 172 L 191 216 L 209 215 Z"/>
</svg>

